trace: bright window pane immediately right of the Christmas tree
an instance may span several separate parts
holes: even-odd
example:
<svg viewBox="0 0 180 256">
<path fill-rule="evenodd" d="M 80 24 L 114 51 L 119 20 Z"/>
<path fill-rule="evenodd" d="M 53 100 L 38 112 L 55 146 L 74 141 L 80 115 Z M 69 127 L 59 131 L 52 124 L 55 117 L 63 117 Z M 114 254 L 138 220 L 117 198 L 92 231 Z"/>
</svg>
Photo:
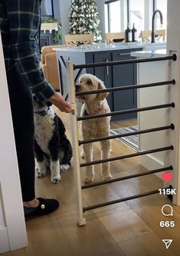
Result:
<svg viewBox="0 0 180 256">
<path fill-rule="evenodd" d="M 105 2 L 105 32 L 121 32 L 120 0 Z"/>
</svg>

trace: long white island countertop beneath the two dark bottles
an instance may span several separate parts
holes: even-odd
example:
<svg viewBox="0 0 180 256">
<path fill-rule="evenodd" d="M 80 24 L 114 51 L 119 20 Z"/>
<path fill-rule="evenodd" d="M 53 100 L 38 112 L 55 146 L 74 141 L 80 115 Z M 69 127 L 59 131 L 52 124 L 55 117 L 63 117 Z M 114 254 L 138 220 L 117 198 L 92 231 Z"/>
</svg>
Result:
<svg viewBox="0 0 180 256">
<path fill-rule="evenodd" d="M 155 43 L 155 47 L 165 47 L 165 43 Z M 105 43 L 94 43 L 93 45 L 80 45 L 71 47 L 54 47 L 55 51 L 61 52 L 103 52 L 108 50 L 126 50 L 128 48 L 153 48 L 154 44 L 148 42 L 135 42 L 135 43 L 115 43 L 115 44 L 105 44 Z"/>
</svg>

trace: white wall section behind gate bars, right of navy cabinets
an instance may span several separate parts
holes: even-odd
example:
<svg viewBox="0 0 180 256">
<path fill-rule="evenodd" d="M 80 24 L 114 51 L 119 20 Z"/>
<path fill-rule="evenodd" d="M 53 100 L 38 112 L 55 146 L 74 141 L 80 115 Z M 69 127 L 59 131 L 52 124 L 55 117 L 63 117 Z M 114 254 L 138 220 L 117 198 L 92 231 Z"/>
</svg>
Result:
<svg viewBox="0 0 180 256">
<path fill-rule="evenodd" d="M 166 68 L 168 62 L 145 62 L 138 64 L 138 84 L 149 84 L 158 81 L 166 81 Z M 165 95 L 167 86 L 141 88 L 138 90 L 138 108 L 166 103 Z M 139 130 L 161 127 L 166 124 L 165 109 L 154 111 L 142 111 L 138 114 Z M 169 125 L 169 124 L 168 124 Z M 169 135 L 167 131 L 150 132 L 139 135 L 139 149 L 146 151 L 152 148 L 162 148 L 165 146 L 165 137 Z M 164 166 L 165 151 L 142 155 L 140 165 L 152 170 Z M 159 175 L 161 177 L 161 174 Z"/>
</svg>

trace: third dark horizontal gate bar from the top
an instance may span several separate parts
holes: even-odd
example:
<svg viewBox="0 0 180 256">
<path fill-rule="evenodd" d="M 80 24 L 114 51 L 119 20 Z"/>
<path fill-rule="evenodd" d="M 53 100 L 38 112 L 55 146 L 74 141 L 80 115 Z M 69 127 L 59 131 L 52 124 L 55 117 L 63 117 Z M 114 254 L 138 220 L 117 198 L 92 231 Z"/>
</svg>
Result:
<svg viewBox="0 0 180 256">
<path fill-rule="evenodd" d="M 123 114 L 135 113 L 135 112 L 140 112 L 140 111 L 149 111 L 149 110 L 153 110 L 153 109 L 170 108 L 170 107 L 174 108 L 175 103 L 172 102 L 169 104 L 155 105 L 155 106 L 145 107 L 145 108 L 132 108 L 132 109 L 126 109 L 126 110 L 120 110 L 120 111 L 113 111 L 110 113 L 97 114 L 97 115 L 85 115 L 85 116 L 77 118 L 77 121 L 93 119 L 93 118 L 104 118 L 106 116 L 123 115 Z"/>
</svg>

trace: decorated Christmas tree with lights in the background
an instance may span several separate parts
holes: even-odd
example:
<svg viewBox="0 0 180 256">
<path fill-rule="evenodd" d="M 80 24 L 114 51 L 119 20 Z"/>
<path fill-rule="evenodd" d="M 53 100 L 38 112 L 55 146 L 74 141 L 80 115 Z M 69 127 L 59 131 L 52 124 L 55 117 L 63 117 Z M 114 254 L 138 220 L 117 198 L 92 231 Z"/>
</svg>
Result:
<svg viewBox="0 0 180 256">
<path fill-rule="evenodd" d="M 100 19 L 95 0 L 72 0 L 70 6 L 70 34 L 93 34 L 94 42 L 101 42 Z"/>
</svg>

